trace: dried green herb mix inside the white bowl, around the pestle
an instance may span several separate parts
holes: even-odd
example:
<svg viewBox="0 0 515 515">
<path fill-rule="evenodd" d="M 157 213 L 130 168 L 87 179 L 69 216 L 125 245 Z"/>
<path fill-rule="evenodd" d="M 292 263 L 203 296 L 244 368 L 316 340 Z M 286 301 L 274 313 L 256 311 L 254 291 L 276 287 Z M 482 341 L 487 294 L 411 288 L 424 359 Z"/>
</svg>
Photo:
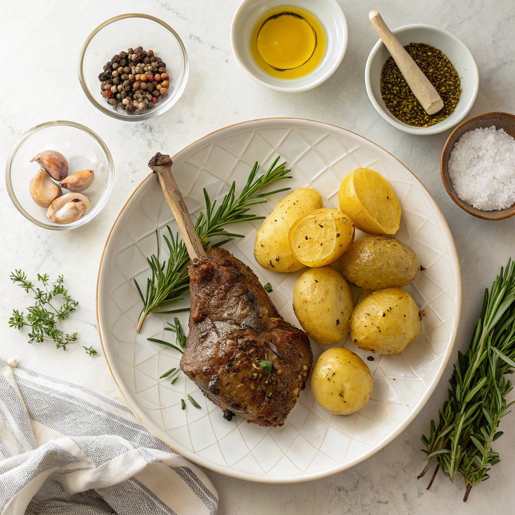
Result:
<svg viewBox="0 0 515 515">
<path fill-rule="evenodd" d="M 438 48 L 425 43 L 410 43 L 404 48 L 434 85 L 443 100 L 443 109 L 432 115 L 425 112 L 392 57 L 386 60 L 381 71 L 381 96 L 388 111 L 401 122 L 415 127 L 435 125 L 458 105 L 461 95 L 458 72 Z"/>
</svg>

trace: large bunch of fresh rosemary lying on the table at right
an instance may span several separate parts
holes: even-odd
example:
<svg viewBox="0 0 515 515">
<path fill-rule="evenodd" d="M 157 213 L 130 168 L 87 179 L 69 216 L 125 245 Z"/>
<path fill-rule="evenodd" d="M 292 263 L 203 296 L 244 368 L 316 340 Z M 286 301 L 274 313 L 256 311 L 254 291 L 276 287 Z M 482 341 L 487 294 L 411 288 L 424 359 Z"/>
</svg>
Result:
<svg viewBox="0 0 515 515">
<path fill-rule="evenodd" d="M 427 465 L 433 458 L 451 480 L 460 472 L 467 485 L 464 501 L 473 486 L 488 479 L 489 466 L 500 458 L 492 443 L 503 433 L 500 420 L 513 402 L 506 403 L 512 389 L 505 375 L 515 371 L 515 262 L 501 268 L 490 292 L 485 291 L 483 310 L 476 323 L 470 348 L 458 353 L 458 363 L 449 380 L 448 400 L 439 410 L 439 423 L 431 421 L 430 436 L 422 436 Z"/>
</svg>

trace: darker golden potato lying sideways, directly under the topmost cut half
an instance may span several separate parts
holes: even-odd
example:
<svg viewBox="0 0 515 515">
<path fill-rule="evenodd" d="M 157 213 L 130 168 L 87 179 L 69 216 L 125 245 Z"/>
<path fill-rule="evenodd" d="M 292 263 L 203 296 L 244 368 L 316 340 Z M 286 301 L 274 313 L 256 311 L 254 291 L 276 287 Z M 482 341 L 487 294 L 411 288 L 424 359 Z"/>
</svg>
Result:
<svg viewBox="0 0 515 515">
<path fill-rule="evenodd" d="M 365 289 L 406 286 L 420 265 L 417 254 L 392 236 L 365 236 L 339 259 L 347 281 Z"/>
</svg>

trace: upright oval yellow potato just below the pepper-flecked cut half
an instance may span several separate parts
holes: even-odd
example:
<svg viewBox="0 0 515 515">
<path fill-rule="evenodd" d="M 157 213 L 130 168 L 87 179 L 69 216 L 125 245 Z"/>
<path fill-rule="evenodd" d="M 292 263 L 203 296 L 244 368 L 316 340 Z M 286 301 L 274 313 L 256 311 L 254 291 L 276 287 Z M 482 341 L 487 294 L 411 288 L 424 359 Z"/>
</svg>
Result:
<svg viewBox="0 0 515 515">
<path fill-rule="evenodd" d="M 295 314 L 302 329 L 319 344 L 337 344 L 346 335 L 353 307 L 347 281 L 331 266 L 311 268 L 295 283 Z"/>
</svg>

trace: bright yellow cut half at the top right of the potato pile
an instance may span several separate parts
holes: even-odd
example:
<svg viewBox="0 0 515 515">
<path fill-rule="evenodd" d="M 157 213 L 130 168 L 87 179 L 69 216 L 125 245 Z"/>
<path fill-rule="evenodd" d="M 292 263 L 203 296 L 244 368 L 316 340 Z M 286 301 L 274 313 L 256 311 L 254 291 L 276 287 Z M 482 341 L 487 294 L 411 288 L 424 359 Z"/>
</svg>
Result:
<svg viewBox="0 0 515 515">
<path fill-rule="evenodd" d="M 354 225 L 370 234 L 395 234 L 401 206 L 388 181 L 369 168 L 356 168 L 340 185 L 340 209 Z"/>
</svg>

